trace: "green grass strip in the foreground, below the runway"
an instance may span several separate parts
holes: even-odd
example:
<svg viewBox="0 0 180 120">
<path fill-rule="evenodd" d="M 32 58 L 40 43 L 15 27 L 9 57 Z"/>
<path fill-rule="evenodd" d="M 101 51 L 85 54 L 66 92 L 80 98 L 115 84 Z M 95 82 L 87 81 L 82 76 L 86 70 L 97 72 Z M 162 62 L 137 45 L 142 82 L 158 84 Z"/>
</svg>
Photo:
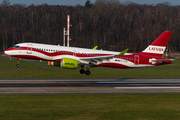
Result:
<svg viewBox="0 0 180 120">
<path fill-rule="evenodd" d="M 180 95 L 1 95 L 0 119 L 177 120 Z"/>
</svg>

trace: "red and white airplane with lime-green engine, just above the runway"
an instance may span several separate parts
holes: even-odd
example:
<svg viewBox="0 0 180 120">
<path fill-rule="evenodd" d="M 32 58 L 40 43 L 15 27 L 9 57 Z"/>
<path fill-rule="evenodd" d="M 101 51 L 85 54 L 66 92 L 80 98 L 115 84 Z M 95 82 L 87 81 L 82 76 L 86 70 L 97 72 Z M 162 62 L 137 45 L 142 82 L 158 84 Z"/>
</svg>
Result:
<svg viewBox="0 0 180 120">
<path fill-rule="evenodd" d="M 5 54 L 16 57 L 17 67 L 21 58 L 52 61 L 54 66 L 76 69 L 80 73 L 90 75 L 89 67 L 102 66 L 113 68 L 140 68 L 171 64 L 173 60 L 162 58 L 172 32 L 163 32 L 154 42 L 140 53 L 65 47 L 39 43 L 19 43 L 4 51 Z M 84 70 L 84 67 L 87 70 Z"/>
</svg>

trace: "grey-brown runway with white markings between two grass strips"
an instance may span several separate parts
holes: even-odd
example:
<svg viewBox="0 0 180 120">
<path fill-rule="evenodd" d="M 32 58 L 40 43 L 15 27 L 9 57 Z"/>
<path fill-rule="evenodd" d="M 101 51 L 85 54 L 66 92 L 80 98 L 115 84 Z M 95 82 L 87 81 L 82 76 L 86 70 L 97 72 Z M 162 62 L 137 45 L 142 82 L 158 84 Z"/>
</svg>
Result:
<svg viewBox="0 0 180 120">
<path fill-rule="evenodd" d="M 180 93 L 178 79 L 0 79 L 0 94 Z"/>
</svg>

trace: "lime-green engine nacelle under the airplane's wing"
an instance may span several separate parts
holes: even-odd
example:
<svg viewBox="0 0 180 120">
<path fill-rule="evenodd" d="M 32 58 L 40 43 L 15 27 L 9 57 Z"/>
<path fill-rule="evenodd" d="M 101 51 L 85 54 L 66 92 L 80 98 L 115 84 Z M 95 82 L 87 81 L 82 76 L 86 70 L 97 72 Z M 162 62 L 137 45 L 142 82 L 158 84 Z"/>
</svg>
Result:
<svg viewBox="0 0 180 120">
<path fill-rule="evenodd" d="M 78 60 L 71 58 L 63 58 L 61 60 L 61 67 L 68 69 L 76 69 L 78 67 Z"/>
</svg>

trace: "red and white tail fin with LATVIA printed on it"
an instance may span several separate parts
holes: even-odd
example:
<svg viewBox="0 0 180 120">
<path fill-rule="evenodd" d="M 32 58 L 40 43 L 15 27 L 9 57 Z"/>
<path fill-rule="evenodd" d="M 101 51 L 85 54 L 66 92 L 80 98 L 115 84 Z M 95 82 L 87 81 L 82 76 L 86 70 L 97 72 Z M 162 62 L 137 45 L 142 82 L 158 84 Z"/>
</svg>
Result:
<svg viewBox="0 0 180 120">
<path fill-rule="evenodd" d="M 162 57 L 168 41 L 171 37 L 171 31 L 163 32 L 154 42 L 152 42 L 144 51 L 139 54 Z"/>
</svg>

